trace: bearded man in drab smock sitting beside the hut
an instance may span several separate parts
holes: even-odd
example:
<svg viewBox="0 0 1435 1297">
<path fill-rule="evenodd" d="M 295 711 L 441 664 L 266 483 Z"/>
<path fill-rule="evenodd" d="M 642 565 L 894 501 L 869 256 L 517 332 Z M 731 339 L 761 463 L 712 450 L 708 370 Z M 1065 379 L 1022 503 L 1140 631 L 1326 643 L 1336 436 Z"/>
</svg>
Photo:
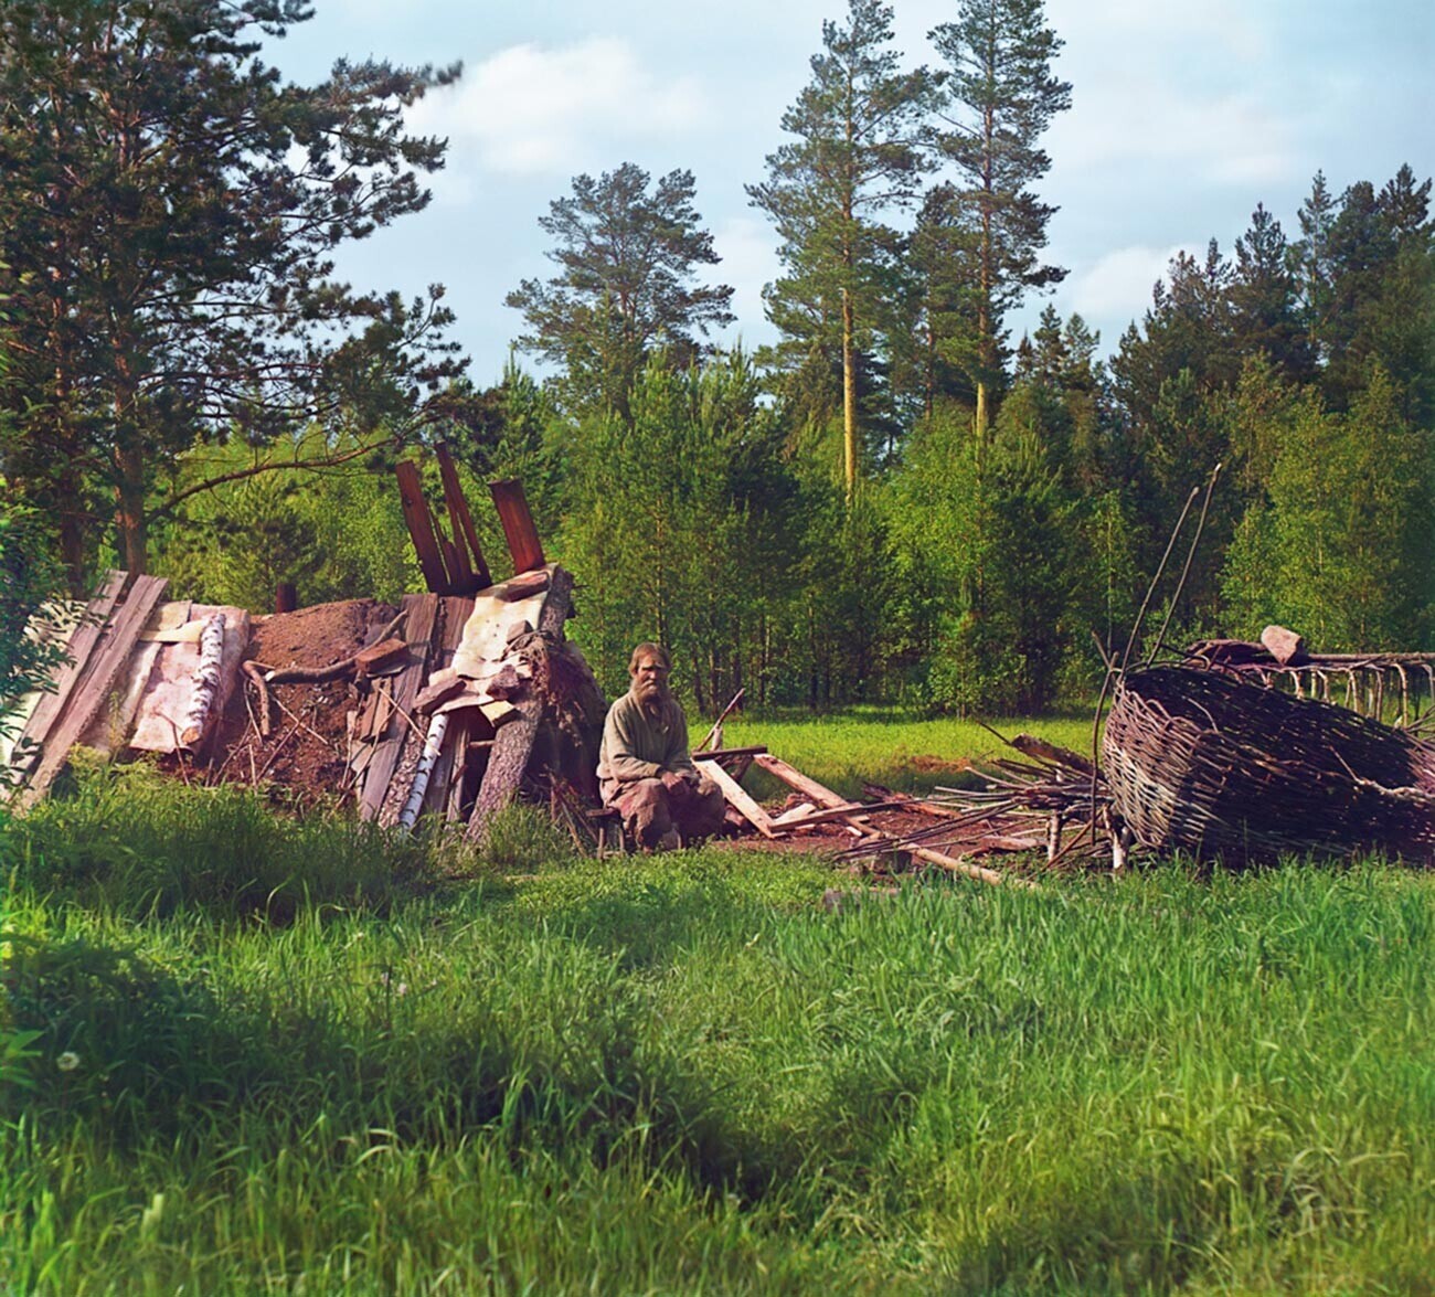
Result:
<svg viewBox="0 0 1435 1297">
<path fill-rule="evenodd" d="M 598 788 L 643 851 L 672 851 L 716 834 L 726 805 L 687 750 L 687 719 L 669 690 L 672 659 L 662 644 L 639 644 L 633 683 L 610 709 L 598 749 Z"/>
</svg>

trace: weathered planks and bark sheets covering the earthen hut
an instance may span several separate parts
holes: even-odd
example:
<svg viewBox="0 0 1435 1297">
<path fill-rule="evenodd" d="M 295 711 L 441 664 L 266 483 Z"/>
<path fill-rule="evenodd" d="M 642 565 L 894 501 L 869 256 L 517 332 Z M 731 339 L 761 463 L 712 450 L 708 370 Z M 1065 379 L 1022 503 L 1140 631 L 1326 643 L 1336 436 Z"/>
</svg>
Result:
<svg viewBox="0 0 1435 1297">
<path fill-rule="evenodd" d="M 13 805 L 44 796 L 76 745 L 159 753 L 221 778 L 232 753 L 220 750 L 215 722 L 238 693 L 247 693 L 250 773 L 260 782 L 284 745 L 314 729 L 283 706 L 280 687 L 336 684 L 352 706 L 343 778 L 331 791 L 352 796 L 363 819 L 408 829 L 428 812 L 464 821 L 478 838 L 495 811 L 534 793 L 550 770 L 594 793 L 607 706 L 564 638 L 573 577 L 545 561 L 522 488 L 497 482 L 515 572 L 495 583 L 452 462 L 446 453 L 439 462 L 451 535 L 418 492 L 416 468 L 399 469 L 430 590 L 405 595 L 396 617 L 337 660 L 257 661 L 244 610 L 165 603 L 164 580 L 110 572 L 70 634 L 53 690 L 32 702 L 9 763 Z M 276 707 L 287 716 L 283 733 Z"/>
</svg>

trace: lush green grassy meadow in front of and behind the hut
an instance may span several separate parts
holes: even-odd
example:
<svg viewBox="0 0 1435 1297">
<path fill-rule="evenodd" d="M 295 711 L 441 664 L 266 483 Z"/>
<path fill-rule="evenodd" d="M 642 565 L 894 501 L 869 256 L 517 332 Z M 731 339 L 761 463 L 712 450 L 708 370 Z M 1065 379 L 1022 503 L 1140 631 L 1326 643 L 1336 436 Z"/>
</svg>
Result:
<svg viewBox="0 0 1435 1297">
<path fill-rule="evenodd" d="M 848 792 L 997 746 L 725 742 Z M 1435 1291 L 1431 875 L 864 895 L 144 770 L 0 844 L 0 1293 Z"/>
</svg>

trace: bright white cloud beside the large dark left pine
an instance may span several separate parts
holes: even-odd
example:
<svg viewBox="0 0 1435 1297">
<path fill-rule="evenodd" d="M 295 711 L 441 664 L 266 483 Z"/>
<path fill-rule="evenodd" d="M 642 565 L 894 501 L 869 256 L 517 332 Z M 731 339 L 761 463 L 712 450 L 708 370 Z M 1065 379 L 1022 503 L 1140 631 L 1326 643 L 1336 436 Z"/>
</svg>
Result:
<svg viewBox="0 0 1435 1297">
<path fill-rule="evenodd" d="M 616 156 L 624 141 L 676 138 L 707 116 L 695 77 L 662 80 L 629 42 L 600 36 L 499 50 L 420 100 L 409 122 L 491 171 L 545 175 L 585 165 L 594 146 Z"/>
</svg>

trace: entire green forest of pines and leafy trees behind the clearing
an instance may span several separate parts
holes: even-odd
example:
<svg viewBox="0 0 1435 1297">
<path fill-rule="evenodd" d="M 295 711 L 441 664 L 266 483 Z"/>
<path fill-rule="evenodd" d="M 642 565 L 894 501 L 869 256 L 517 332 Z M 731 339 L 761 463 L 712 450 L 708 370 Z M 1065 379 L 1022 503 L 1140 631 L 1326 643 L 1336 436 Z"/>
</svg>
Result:
<svg viewBox="0 0 1435 1297">
<path fill-rule="evenodd" d="M 261 42 L 309 13 L 0 10 L 11 621 L 106 567 L 255 610 L 281 581 L 392 600 L 420 584 L 392 468 L 436 492 L 442 442 L 474 499 L 524 484 L 610 692 L 653 637 L 703 710 L 739 687 L 1085 700 L 1182 517 L 1172 570 L 1198 517 L 1200 545 L 1147 620 L 1167 644 L 1279 621 L 1320 650 L 1435 647 L 1435 221 L 1411 166 L 1317 174 L 1294 212 L 1253 194 L 1234 247 L 1175 257 L 1109 354 L 1050 307 L 1019 331 L 1066 274 L 1040 197 L 1060 36 L 1040 0 L 959 0 L 900 50 L 891 9 L 850 0 L 748 185 L 778 341 L 715 341 L 733 290 L 696 172 L 621 161 L 537 217 L 551 274 L 512 287 L 482 389 L 442 286 L 334 270 L 428 204 L 445 143 L 405 113 L 461 69 L 291 83 Z"/>
</svg>

